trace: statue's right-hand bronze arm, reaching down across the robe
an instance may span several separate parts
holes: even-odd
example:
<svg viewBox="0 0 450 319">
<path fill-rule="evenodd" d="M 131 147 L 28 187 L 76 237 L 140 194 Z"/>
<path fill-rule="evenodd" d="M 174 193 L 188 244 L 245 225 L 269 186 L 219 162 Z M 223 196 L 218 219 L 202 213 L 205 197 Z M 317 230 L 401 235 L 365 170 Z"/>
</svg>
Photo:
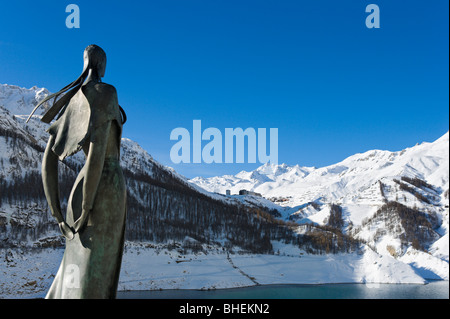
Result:
<svg viewBox="0 0 450 319">
<path fill-rule="evenodd" d="M 83 203 L 80 218 L 75 222 L 75 232 L 80 231 L 87 221 L 89 212 L 94 206 L 95 196 L 102 176 L 106 157 L 111 121 L 96 127 L 91 133 L 89 153 L 86 159 L 86 175 L 83 181 Z"/>
</svg>

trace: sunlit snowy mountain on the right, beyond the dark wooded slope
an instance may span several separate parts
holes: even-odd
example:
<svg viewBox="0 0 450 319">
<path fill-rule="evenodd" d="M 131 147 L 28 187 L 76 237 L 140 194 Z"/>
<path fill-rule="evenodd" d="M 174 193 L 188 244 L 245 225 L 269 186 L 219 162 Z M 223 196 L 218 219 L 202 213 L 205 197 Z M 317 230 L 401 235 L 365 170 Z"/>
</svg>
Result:
<svg viewBox="0 0 450 319">
<path fill-rule="evenodd" d="M 334 221 L 379 253 L 448 278 L 448 132 L 432 143 L 398 152 L 371 150 L 321 168 L 267 163 L 190 182 L 222 194 L 260 193 L 283 207 L 284 220 L 321 226 Z"/>
</svg>

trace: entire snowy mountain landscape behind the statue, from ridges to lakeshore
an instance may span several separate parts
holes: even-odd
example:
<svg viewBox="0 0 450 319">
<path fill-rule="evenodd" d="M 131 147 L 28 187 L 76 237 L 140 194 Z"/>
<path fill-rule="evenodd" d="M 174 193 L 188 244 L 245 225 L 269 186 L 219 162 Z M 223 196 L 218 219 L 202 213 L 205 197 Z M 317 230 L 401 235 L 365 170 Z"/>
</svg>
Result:
<svg viewBox="0 0 450 319">
<path fill-rule="evenodd" d="M 48 125 L 39 118 L 44 110 L 25 124 L 47 94 L 38 87 L 0 84 L 0 250 L 4 256 L 0 298 L 17 289 L 31 295 L 45 291 L 60 252 L 44 248 L 63 247 L 42 191 L 40 169 Z M 433 143 L 401 152 L 368 151 L 323 168 L 265 164 L 235 176 L 188 181 L 136 142 L 123 138 L 126 239 L 129 247 L 137 247 L 124 256 L 122 275 L 128 281 L 123 287 L 196 287 L 187 284 L 188 270 L 183 270 L 177 284 L 168 280 L 154 286 L 147 280 L 179 271 L 178 261 L 167 268 L 170 262 L 162 259 L 160 250 L 177 259 L 183 255 L 182 247 L 193 259 L 203 256 L 197 255 L 198 250 L 204 251 L 203 266 L 212 263 L 214 273 L 222 273 L 225 262 L 242 277 L 238 286 L 249 284 L 251 276 L 242 276 L 239 269 L 248 266 L 252 271 L 255 253 L 269 253 L 258 255 L 257 260 L 271 265 L 256 267 L 265 269 L 261 279 L 257 276 L 259 282 L 265 282 L 262 278 L 269 273 L 274 279 L 267 283 L 279 283 L 279 278 L 284 278 L 283 283 L 448 280 L 448 145 L 446 133 Z M 80 152 L 60 164 L 63 207 L 84 160 Z M 264 197 L 228 196 L 228 189 L 232 194 L 246 189 Z M 29 252 L 30 247 L 39 248 L 39 254 Z M 213 259 L 206 257 L 208 249 L 214 251 Z M 236 249 L 250 257 L 243 258 L 245 262 L 230 257 Z M 47 268 L 29 266 L 50 255 L 50 261 L 41 263 Z M 143 256 L 152 257 L 144 260 Z M 158 274 L 148 266 L 152 263 L 159 265 Z M 314 280 L 310 268 L 316 270 Z M 204 268 L 198 269 L 200 273 Z M 23 282 L 11 279 L 19 277 Z M 235 285 L 220 278 L 203 276 L 199 282 L 201 287 Z"/>
</svg>

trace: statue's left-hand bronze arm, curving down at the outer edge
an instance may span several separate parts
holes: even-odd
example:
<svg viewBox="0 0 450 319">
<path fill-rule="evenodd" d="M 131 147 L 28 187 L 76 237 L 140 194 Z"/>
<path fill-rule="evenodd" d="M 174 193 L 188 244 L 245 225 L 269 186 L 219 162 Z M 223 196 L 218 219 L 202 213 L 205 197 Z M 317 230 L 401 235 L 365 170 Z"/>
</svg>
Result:
<svg viewBox="0 0 450 319">
<path fill-rule="evenodd" d="M 66 224 L 61 213 L 58 183 L 58 157 L 52 151 L 54 144 L 55 137 L 51 135 L 44 152 L 44 158 L 42 159 L 42 183 L 52 216 L 56 218 L 62 234 L 65 237 L 72 239 L 73 231 Z"/>
</svg>

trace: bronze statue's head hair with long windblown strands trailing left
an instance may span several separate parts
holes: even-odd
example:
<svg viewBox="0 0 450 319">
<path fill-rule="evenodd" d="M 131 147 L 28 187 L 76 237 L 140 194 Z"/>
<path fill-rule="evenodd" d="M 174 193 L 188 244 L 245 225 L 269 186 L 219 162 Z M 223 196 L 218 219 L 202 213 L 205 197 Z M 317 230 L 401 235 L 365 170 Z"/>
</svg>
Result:
<svg viewBox="0 0 450 319">
<path fill-rule="evenodd" d="M 59 113 L 59 111 L 69 103 L 70 99 L 78 92 L 78 90 L 81 89 L 81 86 L 83 85 L 84 81 L 89 75 L 89 70 L 98 69 L 99 65 L 102 63 L 106 63 L 105 51 L 103 51 L 102 48 L 100 48 L 98 45 L 95 44 L 91 44 L 88 47 L 86 47 L 86 49 L 84 50 L 83 72 L 81 72 L 81 75 L 78 77 L 78 79 L 76 79 L 69 85 L 66 85 L 58 92 L 53 93 L 44 98 L 42 101 L 40 101 L 31 112 L 30 116 L 27 119 L 27 122 L 30 120 L 34 112 L 36 112 L 36 110 L 42 104 L 53 99 L 53 105 L 48 109 L 48 111 L 44 114 L 44 116 L 41 119 L 42 122 L 50 123 Z M 57 100 L 58 97 L 63 93 L 65 94 L 59 100 Z M 125 111 L 122 109 L 120 105 L 119 108 L 122 114 L 122 124 L 124 124 L 127 121 L 127 116 L 125 114 Z"/>
</svg>

